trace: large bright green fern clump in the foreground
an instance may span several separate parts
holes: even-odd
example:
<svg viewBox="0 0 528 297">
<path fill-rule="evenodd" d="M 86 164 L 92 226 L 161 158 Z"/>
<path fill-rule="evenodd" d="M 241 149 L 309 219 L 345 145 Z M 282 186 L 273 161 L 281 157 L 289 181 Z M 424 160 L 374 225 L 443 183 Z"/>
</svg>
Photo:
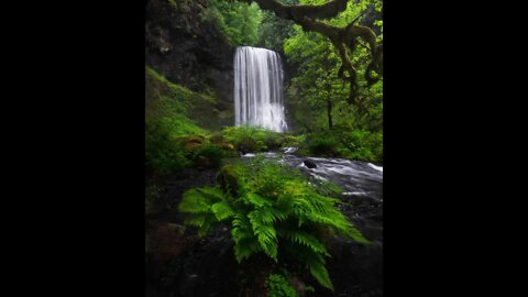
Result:
<svg viewBox="0 0 528 297">
<path fill-rule="evenodd" d="M 337 233 L 369 243 L 336 208 L 339 200 L 319 194 L 299 172 L 273 161 L 231 165 L 230 173 L 237 178 L 231 182 L 235 191 L 216 187 L 184 194 L 179 210 L 187 212 L 187 223 L 205 234 L 224 221 L 231 226 L 238 262 L 255 253 L 275 262 L 296 260 L 322 286 L 333 289 L 324 267 L 324 257 L 330 256 L 324 238 Z"/>
</svg>

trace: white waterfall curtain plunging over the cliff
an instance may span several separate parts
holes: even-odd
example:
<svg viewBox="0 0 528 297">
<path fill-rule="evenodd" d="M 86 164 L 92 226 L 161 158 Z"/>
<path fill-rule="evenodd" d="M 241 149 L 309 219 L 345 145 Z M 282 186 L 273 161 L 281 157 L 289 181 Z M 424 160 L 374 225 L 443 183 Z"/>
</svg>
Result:
<svg viewBox="0 0 528 297">
<path fill-rule="evenodd" d="M 240 46 L 234 54 L 234 124 L 286 131 L 283 64 L 270 50 Z"/>
</svg>

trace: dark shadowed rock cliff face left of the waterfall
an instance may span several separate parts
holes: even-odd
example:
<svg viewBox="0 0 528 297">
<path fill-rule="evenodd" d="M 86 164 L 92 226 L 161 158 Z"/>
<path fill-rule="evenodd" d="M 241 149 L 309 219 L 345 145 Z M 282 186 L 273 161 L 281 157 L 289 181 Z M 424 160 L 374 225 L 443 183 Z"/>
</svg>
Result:
<svg viewBox="0 0 528 297">
<path fill-rule="evenodd" d="M 208 7 L 208 0 L 150 0 L 145 63 L 172 82 L 216 98 L 219 111 L 232 112 L 234 51 Z"/>
</svg>

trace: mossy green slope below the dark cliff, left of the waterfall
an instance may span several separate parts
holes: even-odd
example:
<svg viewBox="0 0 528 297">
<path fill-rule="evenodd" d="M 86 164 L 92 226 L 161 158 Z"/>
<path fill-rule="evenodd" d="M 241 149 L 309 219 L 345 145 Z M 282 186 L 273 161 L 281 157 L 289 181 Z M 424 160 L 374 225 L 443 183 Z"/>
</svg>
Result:
<svg viewBox="0 0 528 297">
<path fill-rule="evenodd" d="M 219 144 L 207 141 L 207 131 L 198 125 L 218 123 L 212 108 L 215 99 L 172 84 L 150 67 L 145 67 L 145 163 L 148 173 L 177 174 L 193 165 L 219 167 L 229 153 Z"/>
</svg>

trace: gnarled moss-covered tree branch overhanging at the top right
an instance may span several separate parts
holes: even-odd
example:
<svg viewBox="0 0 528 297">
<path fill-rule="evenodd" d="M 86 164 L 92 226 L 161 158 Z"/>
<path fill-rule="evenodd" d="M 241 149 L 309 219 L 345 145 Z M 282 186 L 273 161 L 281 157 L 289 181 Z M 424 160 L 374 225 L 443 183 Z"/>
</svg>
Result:
<svg viewBox="0 0 528 297">
<path fill-rule="evenodd" d="M 378 41 L 374 31 L 364 25 L 356 24 L 361 14 L 356 15 L 346 24 L 331 22 L 340 13 L 344 12 L 350 0 L 314 0 L 301 1 L 306 4 L 285 4 L 278 0 L 238 0 L 241 2 L 256 2 L 263 10 L 275 12 L 276 15 L 294 21 L 300 25 L 305 32 L 317 32 L 330 40 L 338 50 L 341 59 L 341 66 L 338 76 L 350 82 L 349 103 L 361 105 L 362 99 L 358 85 L 358 70 L 352 62 L 352 54 L 360 46 L 369 48 L 370 62 L 364 72 L 366 86 L 371 87 L 383 76 L 383 41 Z M 380 0 L 359 0 L 355 6 L 366 6 L 374 3 L 381 9 Z M 363 44 L 360 40 L 365 42 Z"/>
</svg>

